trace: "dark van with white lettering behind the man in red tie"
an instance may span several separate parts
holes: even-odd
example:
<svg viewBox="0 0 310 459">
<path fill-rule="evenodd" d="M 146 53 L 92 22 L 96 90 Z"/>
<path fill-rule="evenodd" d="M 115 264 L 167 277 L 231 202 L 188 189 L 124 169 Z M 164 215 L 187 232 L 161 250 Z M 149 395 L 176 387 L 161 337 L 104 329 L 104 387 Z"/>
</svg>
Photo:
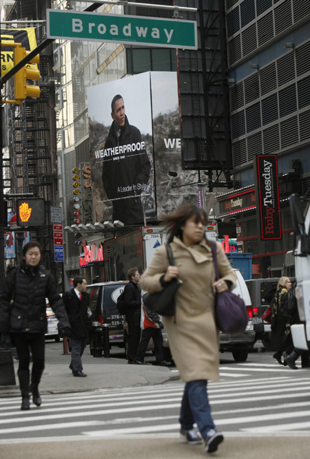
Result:
<svg viewBox="0 0 310 459">
<path fill-rule="evenodd" d="M 92 311 L 92 322 L 100 325 L 109 325 L 110 346 L 124 346 L 123 316 L 116 309 L 118 296 L 123 292 L 129 281 L 99 282 L 87 286 L 87 293 L 90 294 L 90 310 Z M 98 345 L 94 345 L 93 328 L 90 331 L 90 352 L 92 355 L 101 354 Z"/>
</svg>

